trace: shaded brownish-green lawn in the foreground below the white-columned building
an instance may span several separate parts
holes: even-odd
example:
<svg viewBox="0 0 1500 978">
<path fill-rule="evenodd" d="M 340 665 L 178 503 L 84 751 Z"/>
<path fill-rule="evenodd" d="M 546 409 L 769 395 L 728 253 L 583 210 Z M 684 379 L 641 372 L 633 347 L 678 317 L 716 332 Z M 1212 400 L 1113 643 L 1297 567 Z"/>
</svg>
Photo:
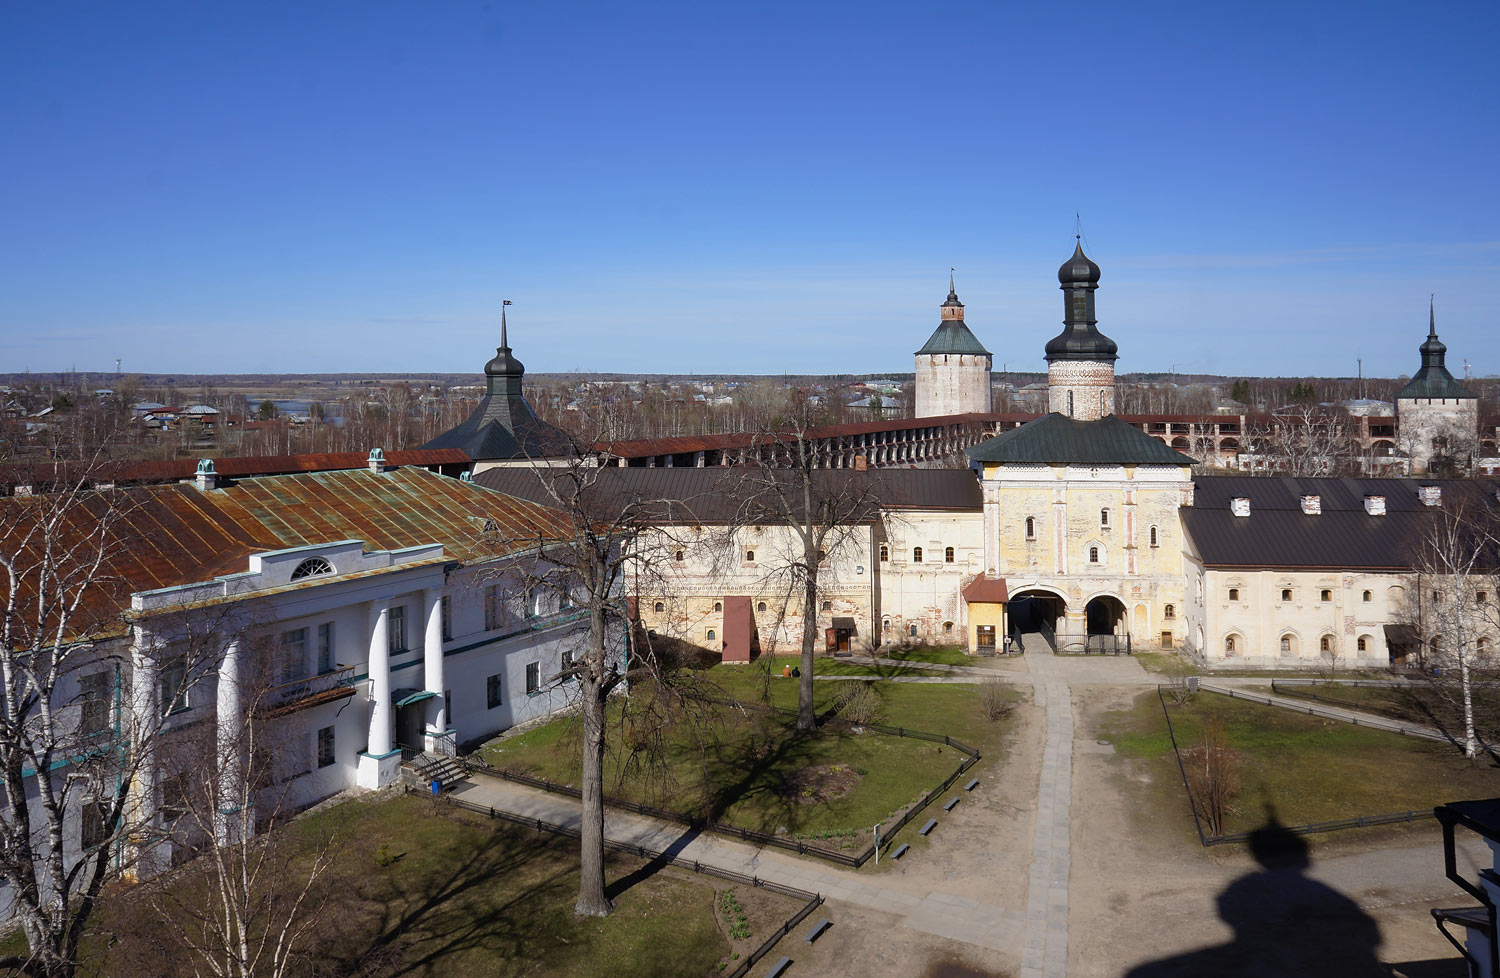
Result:
<svg viewBox="0 0 1500 978">
<path fill-rule="evenodd" d="M 344 802 L 284 831 L 312 838 L 328 819 L 342 822 L 346 842 L 322 888 L 316 962 L 297 975 L 699 976 L 747 954 L 798 908 L 674 868 L 630 879 L 644 862 L 612 854 L 608 878 L 628 888 L 612 894 L 610 916 L 579 920 L 576 842 L 411 795 Z M 142 898 L 156 886 L 190 885 L 190 872 L 111 891 L 81 974 L 192 974 Z M 734 916 L 747 918 L 747 936 L 734 940 L 716 912 L 730 891 Z"/>
</svg>

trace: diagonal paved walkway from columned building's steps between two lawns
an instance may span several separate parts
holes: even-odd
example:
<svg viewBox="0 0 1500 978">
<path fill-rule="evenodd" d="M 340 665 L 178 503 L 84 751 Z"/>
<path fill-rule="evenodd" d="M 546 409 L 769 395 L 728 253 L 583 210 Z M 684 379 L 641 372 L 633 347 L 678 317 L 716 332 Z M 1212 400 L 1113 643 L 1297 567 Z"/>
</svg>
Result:
<svg viewBox="0 0 1500 978">
<path fill-rule="evenodd" d="M 549 795 L 496 777 L 476 776 L 456 794 L 464 801 L 525 818 L 574 828 L 580 822 L 579 802 L 573 798 Z M 894 914 L 912 930 L 993 951 L 1014 951 L 1022 934 L 1023 920 L 1017 910 L 940 890 L 914 891 L 903 886 L 898 878 L 819 866 L 789 852 L 759 849 L 615 808 L 604 819 L 604 834 L 612 842 L 645 846 L 716 868 L 820 892 L 826 900 Z"/>
</svg>

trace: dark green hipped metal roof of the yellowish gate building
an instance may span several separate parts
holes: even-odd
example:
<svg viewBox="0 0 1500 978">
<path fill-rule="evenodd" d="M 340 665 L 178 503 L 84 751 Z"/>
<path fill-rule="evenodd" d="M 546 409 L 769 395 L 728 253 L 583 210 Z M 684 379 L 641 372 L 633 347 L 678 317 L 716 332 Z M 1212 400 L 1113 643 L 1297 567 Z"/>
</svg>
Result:
<svg viewBox="0 0 1500 978">
<path fill-rule="evenodd" d="M 1192 465 L 1146 432 L 1113 414 L 1098 422 L 1077 422 L 1044 414 L 1004 435 L 969 448 L 975 462 L 1041 462 L 1047 465 Z"/>
</svg>

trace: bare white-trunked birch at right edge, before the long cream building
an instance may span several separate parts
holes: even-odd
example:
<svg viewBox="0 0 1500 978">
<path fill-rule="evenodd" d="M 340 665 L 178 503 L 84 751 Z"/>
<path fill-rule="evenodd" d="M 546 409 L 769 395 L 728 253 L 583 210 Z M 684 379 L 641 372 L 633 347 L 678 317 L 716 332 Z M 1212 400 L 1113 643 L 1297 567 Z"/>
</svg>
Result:
<svg viewBox="0 0 1500 978">
<path fill-rule="evenodd" d="M 1466 758 L 1479 752 L 1474 687 L 1492 670 L 1490 648 L 1500 624 L 1497 528 L 1500 514 L 1494 502 L 1458 495 L 1434 508 L 1416 548 L 1416 573 L 1407 596 L 1407 618 L 1422 645 L 1426 675 L 1454 710 Z"/>
</svg>

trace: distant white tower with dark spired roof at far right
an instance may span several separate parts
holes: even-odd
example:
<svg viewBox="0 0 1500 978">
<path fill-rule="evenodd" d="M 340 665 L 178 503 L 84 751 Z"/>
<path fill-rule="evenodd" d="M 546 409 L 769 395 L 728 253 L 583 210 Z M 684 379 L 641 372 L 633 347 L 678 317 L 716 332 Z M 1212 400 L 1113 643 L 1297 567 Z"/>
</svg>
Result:
<svg viewBox="0 0 1500 978">
<path fill-rule="evenodd" d="M 1479 435 L 1479 399 L 1448 372 L 1448 345 L 1437 338 L 1437 312 L 1426 306 L 1422 366 L 1396 393 L 1396 444 L 1413 472 L 1462 470 Z"/>
</svg>

